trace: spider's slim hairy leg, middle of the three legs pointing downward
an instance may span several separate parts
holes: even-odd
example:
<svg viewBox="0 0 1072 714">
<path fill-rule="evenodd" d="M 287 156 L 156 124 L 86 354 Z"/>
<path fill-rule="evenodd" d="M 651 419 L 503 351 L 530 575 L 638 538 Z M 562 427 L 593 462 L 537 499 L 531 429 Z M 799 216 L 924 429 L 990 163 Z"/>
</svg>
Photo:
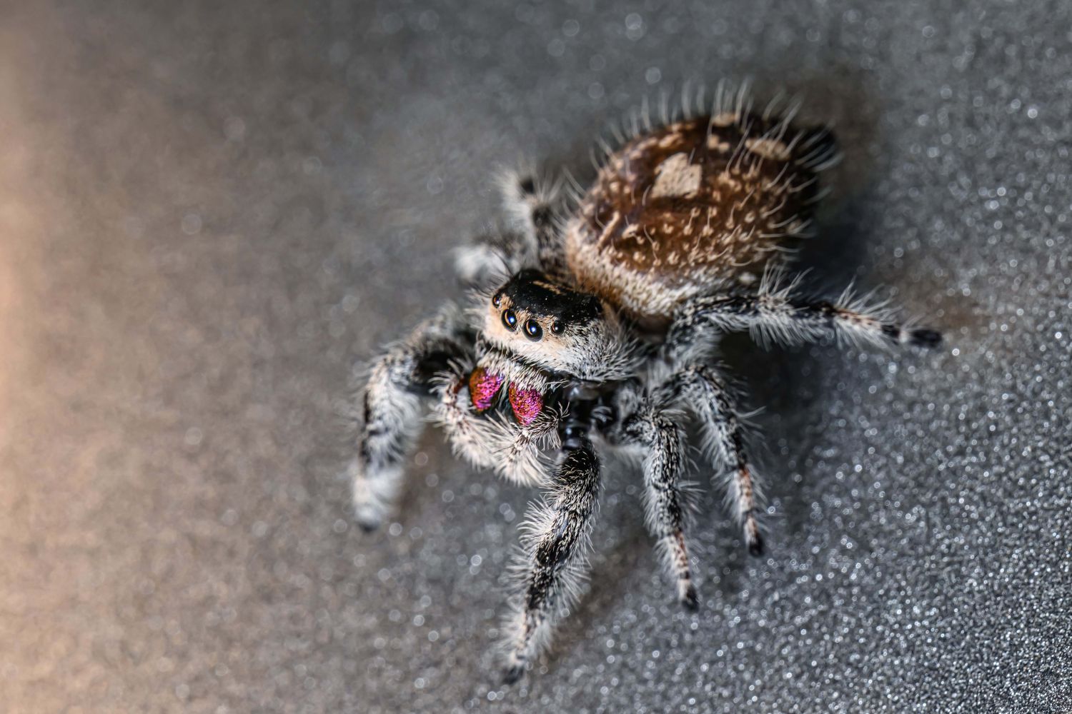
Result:
<svg viewBox="0 0 1072 714">
<path fill-rule="evenodd" d="M 696 609 L 696 586 L 685 546 L 681 427 L 661 405 L 645 398 L 635 410 L 624 414 L 617 436 L 622 442 L 644 450 L 644 521 L 656 538 L 667 572 L 674 579 L 678 601 Z"/>
</svg>

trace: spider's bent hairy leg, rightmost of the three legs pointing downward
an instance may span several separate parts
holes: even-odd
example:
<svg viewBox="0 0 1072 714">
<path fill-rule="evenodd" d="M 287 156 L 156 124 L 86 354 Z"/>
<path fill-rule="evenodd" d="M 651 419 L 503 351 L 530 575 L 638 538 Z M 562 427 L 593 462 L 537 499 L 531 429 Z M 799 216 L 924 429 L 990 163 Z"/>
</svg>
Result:
<svg viewBox="0 0 1072 714">
<path fill-rule="evenodd" d="M 727 499 L 738 523 L 744 529 L 748 552 L 762 555 L 763 537 L 757 520 L 760 483 L 748 465 L 741 420 L 731 392 L 714 369 L 693 364 L 675 373 L 658 390 L 665 404 L 687 406 L 700 420 L 704 447 L 717 466 L 728 465 Z"/>
</svg>

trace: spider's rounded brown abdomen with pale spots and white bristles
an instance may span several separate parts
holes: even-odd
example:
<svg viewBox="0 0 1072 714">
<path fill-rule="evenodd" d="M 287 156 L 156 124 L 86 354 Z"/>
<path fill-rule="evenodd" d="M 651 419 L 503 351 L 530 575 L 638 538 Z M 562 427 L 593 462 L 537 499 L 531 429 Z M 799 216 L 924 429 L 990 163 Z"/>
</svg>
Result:
<svg viewBox="0 0 1072 714">
<path fill-rule="evenodd" d="M 684 300 L 755 282 L 810 219 L 834 143 L 757 115 L 723 113 L 641 134 L 608 157 L 566 229 L 583 289 L 661 322 Z"/>
</svg>

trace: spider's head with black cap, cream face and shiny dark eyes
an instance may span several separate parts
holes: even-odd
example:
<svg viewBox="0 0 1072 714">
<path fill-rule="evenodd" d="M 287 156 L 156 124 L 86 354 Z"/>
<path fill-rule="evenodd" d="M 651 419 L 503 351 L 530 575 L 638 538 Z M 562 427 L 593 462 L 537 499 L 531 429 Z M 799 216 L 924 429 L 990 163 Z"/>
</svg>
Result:
<svg viewBox="0 0 1072 714">
<path fill-rule="evenodd" d="M 612 319 L 595 295 L 523 270 L 492 293 L 483 335 L 547 369 L 584 377 L 615 333 Z"/>
</svg>

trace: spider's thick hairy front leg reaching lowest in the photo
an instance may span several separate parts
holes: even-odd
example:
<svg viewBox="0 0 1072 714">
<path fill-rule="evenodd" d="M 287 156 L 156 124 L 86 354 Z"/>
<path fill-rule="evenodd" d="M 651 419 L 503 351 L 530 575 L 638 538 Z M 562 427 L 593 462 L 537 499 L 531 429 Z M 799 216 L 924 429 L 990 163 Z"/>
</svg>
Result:
<svg viewBox="0 0 1072 714">
<path fill-rule="evenodd" d="M 577 599 L 599 493 L 599 457 L 586 436 L 567 440 L 544 499 L 532 504 L 515 565 L 521 583 L 507 622 L 507 683 L 516 682 L 547 647 L 554 622 Z"/>
</svg>

